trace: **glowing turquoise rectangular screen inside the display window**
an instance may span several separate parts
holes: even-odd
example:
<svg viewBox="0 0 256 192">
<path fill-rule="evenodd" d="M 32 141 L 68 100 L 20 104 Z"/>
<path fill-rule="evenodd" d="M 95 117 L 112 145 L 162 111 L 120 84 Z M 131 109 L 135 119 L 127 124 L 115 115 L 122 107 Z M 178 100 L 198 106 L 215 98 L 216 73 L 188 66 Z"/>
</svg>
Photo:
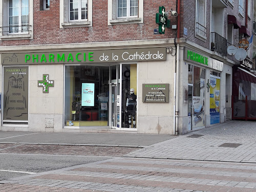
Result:
<svg viewBox="0 0 256 192">
<path fill-rule="evenodd" d="M 82 83 L 82 106 L 94 106 L 94 83 Z"/>
</svg>

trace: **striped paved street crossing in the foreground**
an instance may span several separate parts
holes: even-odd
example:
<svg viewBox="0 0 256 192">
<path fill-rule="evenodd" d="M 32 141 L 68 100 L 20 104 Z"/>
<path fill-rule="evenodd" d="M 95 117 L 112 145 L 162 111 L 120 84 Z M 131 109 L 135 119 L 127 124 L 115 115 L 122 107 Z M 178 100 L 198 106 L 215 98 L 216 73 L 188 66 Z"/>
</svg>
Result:
<svg viewBox="0 0 256 192">
<path fill-rule="evenodd" d="M 256 191 L 256 166 L 113 158 L 1 183 L 0 191 Z"/>
</svg>

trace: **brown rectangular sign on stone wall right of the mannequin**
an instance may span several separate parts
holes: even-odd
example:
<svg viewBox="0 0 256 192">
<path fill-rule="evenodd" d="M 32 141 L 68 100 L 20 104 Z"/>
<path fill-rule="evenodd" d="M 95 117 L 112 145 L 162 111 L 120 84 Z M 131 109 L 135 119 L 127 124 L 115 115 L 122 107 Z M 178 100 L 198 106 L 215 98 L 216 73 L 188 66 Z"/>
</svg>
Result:
<svg viewBox="0 0 256 192">
<path fill-rule="evenodd" d="M 142 84 L 142 102 L 169 102 L 169 83 Z"/>
</svg>

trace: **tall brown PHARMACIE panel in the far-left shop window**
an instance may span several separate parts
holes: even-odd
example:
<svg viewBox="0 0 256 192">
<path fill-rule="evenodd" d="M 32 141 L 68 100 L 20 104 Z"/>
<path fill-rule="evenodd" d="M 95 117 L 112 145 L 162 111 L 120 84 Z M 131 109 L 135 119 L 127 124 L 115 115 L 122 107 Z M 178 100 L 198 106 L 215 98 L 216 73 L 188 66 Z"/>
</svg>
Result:
<svg viewBox="0 0 256 192">
<path fill-rule="evenodd" d="M 28 67 L 4 67 L 4 120 L 28 120 Z"/>
</svg>

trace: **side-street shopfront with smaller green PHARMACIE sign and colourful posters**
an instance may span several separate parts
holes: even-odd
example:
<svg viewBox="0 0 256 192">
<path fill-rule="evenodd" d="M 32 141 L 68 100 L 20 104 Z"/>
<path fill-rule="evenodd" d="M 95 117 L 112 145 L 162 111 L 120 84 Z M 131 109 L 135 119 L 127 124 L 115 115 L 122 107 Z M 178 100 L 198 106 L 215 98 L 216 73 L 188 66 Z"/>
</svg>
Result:
<svg viewBox="0 0 256 192">
<path fill-rule="evenodd" d="M 229 67 L 226 68 L 231 73 Z M 221 106 L 222 113 L 225 113 L 226 108 L 225 102 L 221 100 L 222 94 L 225 95 L 227 92 L 230 95 L 230 91 L 227 90 L 230 90 L 231 86 L 229 84 L 229 89 L 226 89 L 226 86 L 221 88 L 222 75 L 226 78 L 223 69 L 223 62 L 193 49 L 184 49 L 183 73 L 187 76 L 187 80 L 184 80 L 187 82 L 187 89 L 184 92 L 184 102 L 187 104 L 187 131 L 195 131 L 221 122 Z"/>
</svg>

